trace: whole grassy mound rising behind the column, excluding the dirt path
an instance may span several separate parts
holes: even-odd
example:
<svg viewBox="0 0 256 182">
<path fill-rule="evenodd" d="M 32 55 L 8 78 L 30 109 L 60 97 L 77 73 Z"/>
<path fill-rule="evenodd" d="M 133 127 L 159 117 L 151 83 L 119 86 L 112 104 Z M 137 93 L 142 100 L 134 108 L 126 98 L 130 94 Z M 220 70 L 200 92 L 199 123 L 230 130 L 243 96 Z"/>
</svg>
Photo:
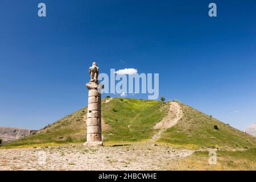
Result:
<svg viewBox="0 0 256 182">
<path fill-rule="evenodd" d="M 108 127 L 103 132 L 104 142 L 124 143 L 151 139 L 158 132 L 153 127 L 167 115 L 169 104 L 132 98 L 113 98 L 106 103 L 105 98 L 102 100 L 102 118 Z M 164 131 L 159 142 L 189 148 L 255 148 L 256 138 L 188 105 L 179 104 L 183 117 L 175 126 Z M 85 118 L 86 107 L 8 146 L 85 142 Z M 214 128 L 214 125 L 217 127 Z"/>
</svg>

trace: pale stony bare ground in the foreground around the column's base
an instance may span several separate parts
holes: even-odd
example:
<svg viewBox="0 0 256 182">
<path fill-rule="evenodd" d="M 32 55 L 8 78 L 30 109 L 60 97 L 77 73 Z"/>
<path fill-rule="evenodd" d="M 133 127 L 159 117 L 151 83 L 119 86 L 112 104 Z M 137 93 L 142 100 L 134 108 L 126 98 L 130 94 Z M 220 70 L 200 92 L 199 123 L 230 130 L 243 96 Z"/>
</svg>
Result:
<svg viewBox="0 0 256 182">
<path fill-rule="evenodd" d="M 0 170 L 170 170 L 177 160 L 192 153 L 150 142 L 1 149 Z"/>
</svg>

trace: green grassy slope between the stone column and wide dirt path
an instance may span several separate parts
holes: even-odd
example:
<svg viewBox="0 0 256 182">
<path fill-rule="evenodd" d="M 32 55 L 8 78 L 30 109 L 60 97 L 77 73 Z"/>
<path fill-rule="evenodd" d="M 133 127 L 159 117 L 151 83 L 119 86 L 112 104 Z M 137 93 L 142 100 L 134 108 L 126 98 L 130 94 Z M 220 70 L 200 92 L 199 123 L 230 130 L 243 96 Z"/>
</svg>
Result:
<svg viewBox="0 0 256 182">
<path fill-rule="evenodd" d="M 104 104 L 102 117 L 110 125 L 104 140 L 140 141 L 155 134 L 153 127 L 167 114 L 168 105 L 160 101 L 114 98 Z"/>
</svg>

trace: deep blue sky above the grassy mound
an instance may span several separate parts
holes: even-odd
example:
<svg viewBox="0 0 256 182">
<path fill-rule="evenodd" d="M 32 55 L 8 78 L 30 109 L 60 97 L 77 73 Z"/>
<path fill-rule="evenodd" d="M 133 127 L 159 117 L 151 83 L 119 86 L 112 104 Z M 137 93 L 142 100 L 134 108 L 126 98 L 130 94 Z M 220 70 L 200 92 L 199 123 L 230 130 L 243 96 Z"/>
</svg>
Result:
<svg viewBox="0 0 256 182">
<path fill-rule="evenodd" d="M 159 73 L 160 96 L 243 130 L 256 122 L 255 49 L 254 0 L 0 0 L 0 126 L 40 129 L 84 107 L 96 60 Z"/>
</svg>

